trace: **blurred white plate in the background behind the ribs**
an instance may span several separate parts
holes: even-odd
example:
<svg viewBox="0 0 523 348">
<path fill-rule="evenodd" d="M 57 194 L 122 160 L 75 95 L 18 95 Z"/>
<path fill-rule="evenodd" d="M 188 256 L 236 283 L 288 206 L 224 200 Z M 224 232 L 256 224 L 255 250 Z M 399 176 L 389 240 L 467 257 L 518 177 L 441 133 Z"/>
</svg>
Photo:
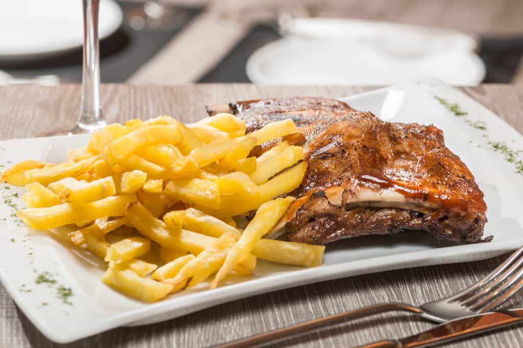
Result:
<svg viewBox="0 0 523 348">
<path fill-rule="evenodd" d="M 285 29 L 249 58 L 251 81 L 379 86 L 435 77 L 473 86 L 486 73 L 475 40 L 456 31 L 326 18 L 294 19 Z"/>
</svg>

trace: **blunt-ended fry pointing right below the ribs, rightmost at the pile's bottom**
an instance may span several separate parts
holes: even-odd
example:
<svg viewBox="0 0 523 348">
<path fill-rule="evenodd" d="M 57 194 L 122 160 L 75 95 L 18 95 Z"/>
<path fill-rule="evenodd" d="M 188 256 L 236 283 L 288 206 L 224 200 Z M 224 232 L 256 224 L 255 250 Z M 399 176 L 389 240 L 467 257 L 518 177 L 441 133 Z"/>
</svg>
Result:
<svg viewBox="0 0 523 348">
<path fill-rule="evenodd" d="M 315 267 L 322 264 L 324 251 L 324 245 L 261 238 L 254 246 L 253 255 L 260 259 L 286 265 Z"/>
</svg>

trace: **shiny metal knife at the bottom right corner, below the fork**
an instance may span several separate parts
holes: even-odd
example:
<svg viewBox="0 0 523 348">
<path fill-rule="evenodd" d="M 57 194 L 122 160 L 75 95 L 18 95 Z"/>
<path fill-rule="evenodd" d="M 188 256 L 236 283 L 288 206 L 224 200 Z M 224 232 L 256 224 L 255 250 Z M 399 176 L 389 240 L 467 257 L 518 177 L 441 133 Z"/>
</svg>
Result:
<svg viewBox="0 0 523 348">
<path fill-rule="evenodd" d="M 399 340 L 380 341 L 360 348 L 427 347 L 459 340 L 482 332 L 505 328 L 523 322 L 523 308 L 497 310 L 480 315 L 447 321 L 433 329 Z"/>
</svg>

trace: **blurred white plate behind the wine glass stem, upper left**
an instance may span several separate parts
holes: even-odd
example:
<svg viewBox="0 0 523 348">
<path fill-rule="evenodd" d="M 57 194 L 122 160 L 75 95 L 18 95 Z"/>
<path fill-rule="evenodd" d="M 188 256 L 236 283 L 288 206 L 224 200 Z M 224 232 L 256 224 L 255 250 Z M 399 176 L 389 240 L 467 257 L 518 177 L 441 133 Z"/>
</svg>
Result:
<svg viewBox="0 0 523 348">
<path fill-rule="evenodd" d="M 0 59 L 28 59 L 81 47 L 81 0 L 16 0 L 0 5 Z M 112 0 L 100 2 L 99 36 L 108 37 L 122 23 Z"/>
</svg>

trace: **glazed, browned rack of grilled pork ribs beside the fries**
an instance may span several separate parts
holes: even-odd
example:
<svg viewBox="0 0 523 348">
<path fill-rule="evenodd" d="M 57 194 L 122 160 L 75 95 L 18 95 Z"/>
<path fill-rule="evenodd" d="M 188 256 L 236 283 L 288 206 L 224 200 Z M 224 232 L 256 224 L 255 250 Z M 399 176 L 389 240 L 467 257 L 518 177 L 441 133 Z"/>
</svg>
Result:
<svg viewBox="0 0 523 348">
<path fill-rule="evenodd" d="M 325 244 L 401 230 L 481 239 L 483 193 L 440 129 L 383 122 L 343 104 L 283 98 L 230 106 L 250 131 L 289 116 L 300 127 L 309 166 L 282 220 L 288 239 Z"/>
</svg>

